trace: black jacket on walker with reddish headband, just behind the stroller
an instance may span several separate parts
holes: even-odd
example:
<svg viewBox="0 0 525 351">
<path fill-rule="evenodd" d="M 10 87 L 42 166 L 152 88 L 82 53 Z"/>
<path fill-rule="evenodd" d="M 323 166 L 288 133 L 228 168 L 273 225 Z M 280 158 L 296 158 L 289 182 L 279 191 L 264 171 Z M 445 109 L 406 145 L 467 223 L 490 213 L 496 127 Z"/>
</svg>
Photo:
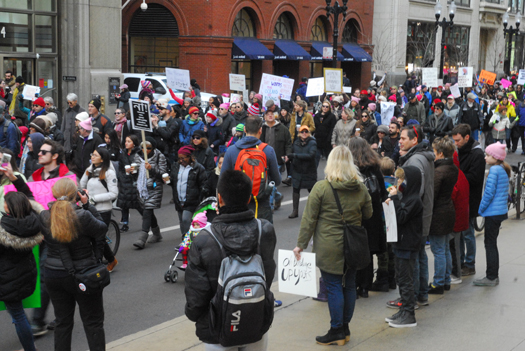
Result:
<svg viewBox="0 0 525 351">
<path fill-rule="evenodd" d="M 178 179 L 180 163 L 176 162 L 171 168 L 170 186 L 173 188 L 173 202 L 177 211 L 195 212 L 197 206 L 209 194 L 208 177 L 204 167 L 197 161 L 190 164 L 191 170 L 186 183 L 186 201 L 181 203 L 178 192 Z M 213 194 L 215 196 L 215 194 Z"/>
</svg>

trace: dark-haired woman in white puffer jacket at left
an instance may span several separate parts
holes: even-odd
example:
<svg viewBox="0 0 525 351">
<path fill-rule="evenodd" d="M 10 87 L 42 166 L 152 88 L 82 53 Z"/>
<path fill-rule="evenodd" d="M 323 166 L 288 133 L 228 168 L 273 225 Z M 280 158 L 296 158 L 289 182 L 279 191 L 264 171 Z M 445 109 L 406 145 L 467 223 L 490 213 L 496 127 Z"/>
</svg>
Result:
<svg viewBox="0 0 525 351">
<path fill-rule="evenodd" d="M 109 226 L 113 201 L 118 196 L 117 175 L 111 167 L 110 160 L 109 151 L 98 147 L 91 154 L 91 166 L 80 179 L 80 188 L 87 190 L 89 201 L 95 206 L 106 226 Z M 104 244 L 104 257 L 108 260 L 108 271 L 112 272 L 118 261 L 107 243 Z"/>
</svg>

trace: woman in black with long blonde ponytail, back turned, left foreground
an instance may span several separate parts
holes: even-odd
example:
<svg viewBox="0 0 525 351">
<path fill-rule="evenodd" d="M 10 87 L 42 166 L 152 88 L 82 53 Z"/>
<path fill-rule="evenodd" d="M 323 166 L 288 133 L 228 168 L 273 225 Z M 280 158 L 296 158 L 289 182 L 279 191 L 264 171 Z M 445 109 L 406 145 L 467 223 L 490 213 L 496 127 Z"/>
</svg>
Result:
<svg viewBox="0 0 525 351">
<path fill-rule="evenodd" d="M 107 226 L 89 194 L 78 192 L 70 178 L 59 179 L 52 187 L 57 200 L 42 211 L 42 234 L 48 245 L 44 264 L 46 288 L 55 310 L 55 350 L 71 350 L 75 305 L 78 304 L 91 351 L 105 350 L 104 305 L 102 291 L 84 294 L 77 287 L 64 261 L 69 257 L 75 272 L 92 267 L 102 260 Z M 82 206 L 77 205 L 77 196 Z"/>
</svg>

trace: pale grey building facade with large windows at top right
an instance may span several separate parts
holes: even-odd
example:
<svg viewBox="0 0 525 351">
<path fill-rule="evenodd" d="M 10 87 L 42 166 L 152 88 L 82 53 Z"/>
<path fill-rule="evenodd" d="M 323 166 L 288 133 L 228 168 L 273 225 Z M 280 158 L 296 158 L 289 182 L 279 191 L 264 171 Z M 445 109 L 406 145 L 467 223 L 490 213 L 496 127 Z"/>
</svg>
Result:
<svg viewBox="0 0 525 351">
<path fill-rule="evenodd" d="M 441 4 L 442 17 L 449 20 L 447 1 Z M 524 10 L 522 0 L 456 0 L 455 4 L 454 25 L 445 33 L 445 74 L 469 66 L 476 73 L 485 69 L 499 76 L 509 61 L 512 70 L 523 68 L 523 35 L 513 37 L 509 57 L 509 37 L 504 37 L 502 23 L 510 9 L 509 26 L 514 26 L 516 13 Z M 435 5 L 436 0 L 375 1 L 373 69 L 388 71 L 390 84 L 402 84 L 407 74 L 421 67 L 439 67 L 442 29 L 436 30 Z"/>
</svg>

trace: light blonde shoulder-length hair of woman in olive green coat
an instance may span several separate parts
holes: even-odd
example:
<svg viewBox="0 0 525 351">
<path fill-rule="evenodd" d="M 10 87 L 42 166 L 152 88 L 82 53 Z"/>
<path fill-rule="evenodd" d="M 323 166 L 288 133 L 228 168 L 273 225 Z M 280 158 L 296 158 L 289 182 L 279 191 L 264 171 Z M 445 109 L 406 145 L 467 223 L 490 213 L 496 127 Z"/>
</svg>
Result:
<svg viewBox="0 0 525 351">
<path fill-rule="evenodd" d="M 351 179 L 363 181 L 359 169 L 354 164 L 350 149 L 344 145 L 337 146 L 330 152 L 324 174 L 329 182 L 335 180 L 344 182 Z"/>
</svg>

